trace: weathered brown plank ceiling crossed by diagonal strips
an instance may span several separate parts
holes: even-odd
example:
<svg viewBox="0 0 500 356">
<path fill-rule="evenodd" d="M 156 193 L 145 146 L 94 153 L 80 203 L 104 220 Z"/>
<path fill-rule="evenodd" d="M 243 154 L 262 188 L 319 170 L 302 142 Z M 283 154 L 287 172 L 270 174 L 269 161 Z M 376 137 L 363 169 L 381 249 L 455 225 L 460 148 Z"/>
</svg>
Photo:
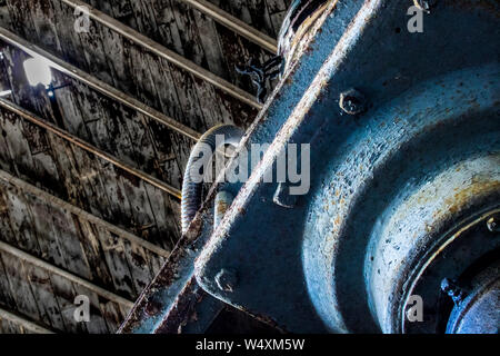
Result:
<svg viewBox="0 0 500 356">
<path fill-rule="evenodd" d="M 0 0 L 0 333 L 118 328 L 180 237 L 192 136 L 256 117 L 234 66 L 272 57 L 290 0 L 211 0 L 218 21 L 202 0 L 87 0 L 79 33 L 81 3 Z M 63 66 L 53 98 L 28 85 L 27 49 Z"/>
</svg>

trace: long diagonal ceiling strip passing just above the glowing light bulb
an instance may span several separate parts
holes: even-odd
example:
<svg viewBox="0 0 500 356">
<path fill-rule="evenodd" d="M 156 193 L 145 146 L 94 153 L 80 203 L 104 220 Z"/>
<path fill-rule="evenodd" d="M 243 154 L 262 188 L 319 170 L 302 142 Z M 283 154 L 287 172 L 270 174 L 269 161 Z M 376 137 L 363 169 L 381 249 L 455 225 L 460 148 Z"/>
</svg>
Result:
<svg viewBox="0 0 500 356">
<path fill-rule="evenodd" d="M 136 98 L 132 98 L 124 92 L 116 89 L 114 87 L 103 82 L 102 80 L 97 79 L 96 77 L 92 77 L 91 75 L 87 73 L 86 71 L 67 63 L 62 59 L 44 51 L 43 49 L 30 43 L 29 41 L 20 38 L 19 36 L 8 31 L 7 29 L 0 27 L 0 39 L 6 41 L 9 44 L 12 44 L 26 53 L 32 56 L 32 57 L 41 57 L 44 60 L 48 61 L 48 63 L 59 70 L 60 72 L 74 78 L 84 85 L 89 86 L 90 88 L 103 93 L 104 96 L 114 99 L 124 106 L 141 112 L 148 117 L 150 117 L 153 120 L 159 121 L 160 123 L 171 128 L 172 130 L 182 134 L 193 140 L 198 140 L 201 137 L 201 134 L 192 130 L 191 128 L 180 123 L 179 121 L 166 116 L 164 113 L 154 110 L 143 102 L 137 100 Z"/>
</svg>

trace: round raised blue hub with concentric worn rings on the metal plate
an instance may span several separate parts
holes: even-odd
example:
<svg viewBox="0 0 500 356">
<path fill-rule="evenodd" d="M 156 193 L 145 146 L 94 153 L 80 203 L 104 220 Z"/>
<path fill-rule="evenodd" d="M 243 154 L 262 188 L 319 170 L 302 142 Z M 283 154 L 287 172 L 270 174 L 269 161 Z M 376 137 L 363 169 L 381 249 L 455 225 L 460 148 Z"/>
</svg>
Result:
<svg viewBox="0 0 500 356">
<path fill-rule="evenodd" d="M 496 83 L 478 72 L 466 93 L 462 76 L 332 132 L 349 139 L 316 172 L 303 234 L 309 296 L 331 330 L 444 333 L 453 303 L 441 281 L 500 248 L 487 224 L 500 206 L 497 89 L 484 87 Z M 422 316 L 408 318 L 416 300 Z"/>
</svg>

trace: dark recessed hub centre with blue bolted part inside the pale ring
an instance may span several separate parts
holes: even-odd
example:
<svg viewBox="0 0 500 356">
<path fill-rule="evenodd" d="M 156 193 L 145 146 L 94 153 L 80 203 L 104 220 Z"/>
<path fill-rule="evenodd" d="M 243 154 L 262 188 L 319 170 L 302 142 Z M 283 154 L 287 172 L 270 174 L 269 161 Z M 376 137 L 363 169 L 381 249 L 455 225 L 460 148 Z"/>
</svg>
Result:
<svg viewBox="0 0 500 356">
<path fill-rule="evenodd" d="M 411 287 L 400 309 L 403 333 L 444 333 L 447 324 L 462 325 L 462 322 L 469 325 L 466 328 L 471 330 L 471 320 L 479 315 L 498 314 L 499 300 L 496 307 L 487 310 L 488 306 L 492 307 L 492 296 L 499 293 L 499 290 L 494 291 L 498 283 L 496 285 L 486 278 L 478 281 L 476 276 L 478 270 L 481 270 L 482 266 L 490 260 L 498 259 L 500 263 L 500 256 L 496 250 L 500 236 L 492 236 L 487 226 L 487 221 L 498 210 L 482 214 L 458 225 L 454 230 L 438 239 L 436 246 L 429 249 L 427 258 L 418 261 L 414 273 L 407 279 Z M 498 269 L 496 271 L 498 273 Z M 490 273 L 490 276 L 493 274 Z M 498 274 L 494 277 L 498 278 Z M 420 296 L 422 300 L 421 322 L 408 317 L 408 310 L 411 308 L 409 300 L 414 295 Z M 468 301 L 464 301 L 466 299 Z M 450 318 L 452 307 L 459 312 L 454 310 L 452 313 L 454 316 Z M 457 320 L 449 322 L 449 319 Z M 457 329 L 459 327 L 453 326 L 448 332 L 454 333 Z M 474 329 L 487 332 L 491 327 L 481 327 L 477 324 Z"/>
</svg>

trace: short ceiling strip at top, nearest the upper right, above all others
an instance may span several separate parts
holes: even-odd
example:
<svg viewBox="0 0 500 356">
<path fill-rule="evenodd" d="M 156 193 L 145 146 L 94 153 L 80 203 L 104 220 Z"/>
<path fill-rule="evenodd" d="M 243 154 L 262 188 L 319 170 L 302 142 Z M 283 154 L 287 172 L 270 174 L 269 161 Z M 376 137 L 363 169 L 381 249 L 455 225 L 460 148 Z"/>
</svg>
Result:
<svg viewBox="0 0 500 356">
<path fill-rule="evenodd" d="M 278 43 L 273 38 L 267 36 L 266 33 L 260 32 L 259 30 L 254 29 L 251 26 L 248 26 L 246 22 L 221 10 L 213 3 L 210 3 L 206 0 L 182 0 L 182 1 L 189 3 L 192 8 L 212 18 L 214 21 L 227 27 L 231 31 L 244 37 L 246 39 L 250 40 L 256 44 L 259 44 L 263 49 L 274 55 L 278 52 Z"/>
</svg>

